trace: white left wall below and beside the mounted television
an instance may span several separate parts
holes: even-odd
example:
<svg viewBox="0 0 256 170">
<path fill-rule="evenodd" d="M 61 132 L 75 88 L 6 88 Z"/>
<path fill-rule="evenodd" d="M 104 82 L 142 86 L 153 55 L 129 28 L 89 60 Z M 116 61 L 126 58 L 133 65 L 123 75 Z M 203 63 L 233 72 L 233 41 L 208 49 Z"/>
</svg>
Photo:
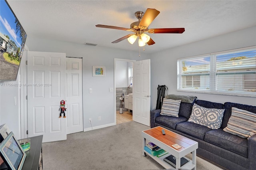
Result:
<svg viewBox="0 0 256 170">
<path fill-rule="evenodd" d="M 26 51 L 28 51 L 27 46 L 24 47 L 22 60 L 20 62 L 20 67 L 25 67 L 25 69 Z M 6 124 L 17 139 L 26 137 L 26 117 L 23 116 L 24 112 L 26 112 L 26 107 L 24 107 L 24 105 L 27 104 L 26 95 L 24 95 L 24 99 L 20 99 L 20 93 L 24 93 L 26 89 L 22 86 L 17 87 L 10 85 L 25 83 L 26 76 L 21 76 L 22 79 L 19 77 L 19 74 L 23 74 L 23 72 L 24 69 L 19 69 L 16 81 L 0 83 L 0 125 Z M 14 105 L 14 97 L 16 97 L 16 105 Z"/>
</svg>

